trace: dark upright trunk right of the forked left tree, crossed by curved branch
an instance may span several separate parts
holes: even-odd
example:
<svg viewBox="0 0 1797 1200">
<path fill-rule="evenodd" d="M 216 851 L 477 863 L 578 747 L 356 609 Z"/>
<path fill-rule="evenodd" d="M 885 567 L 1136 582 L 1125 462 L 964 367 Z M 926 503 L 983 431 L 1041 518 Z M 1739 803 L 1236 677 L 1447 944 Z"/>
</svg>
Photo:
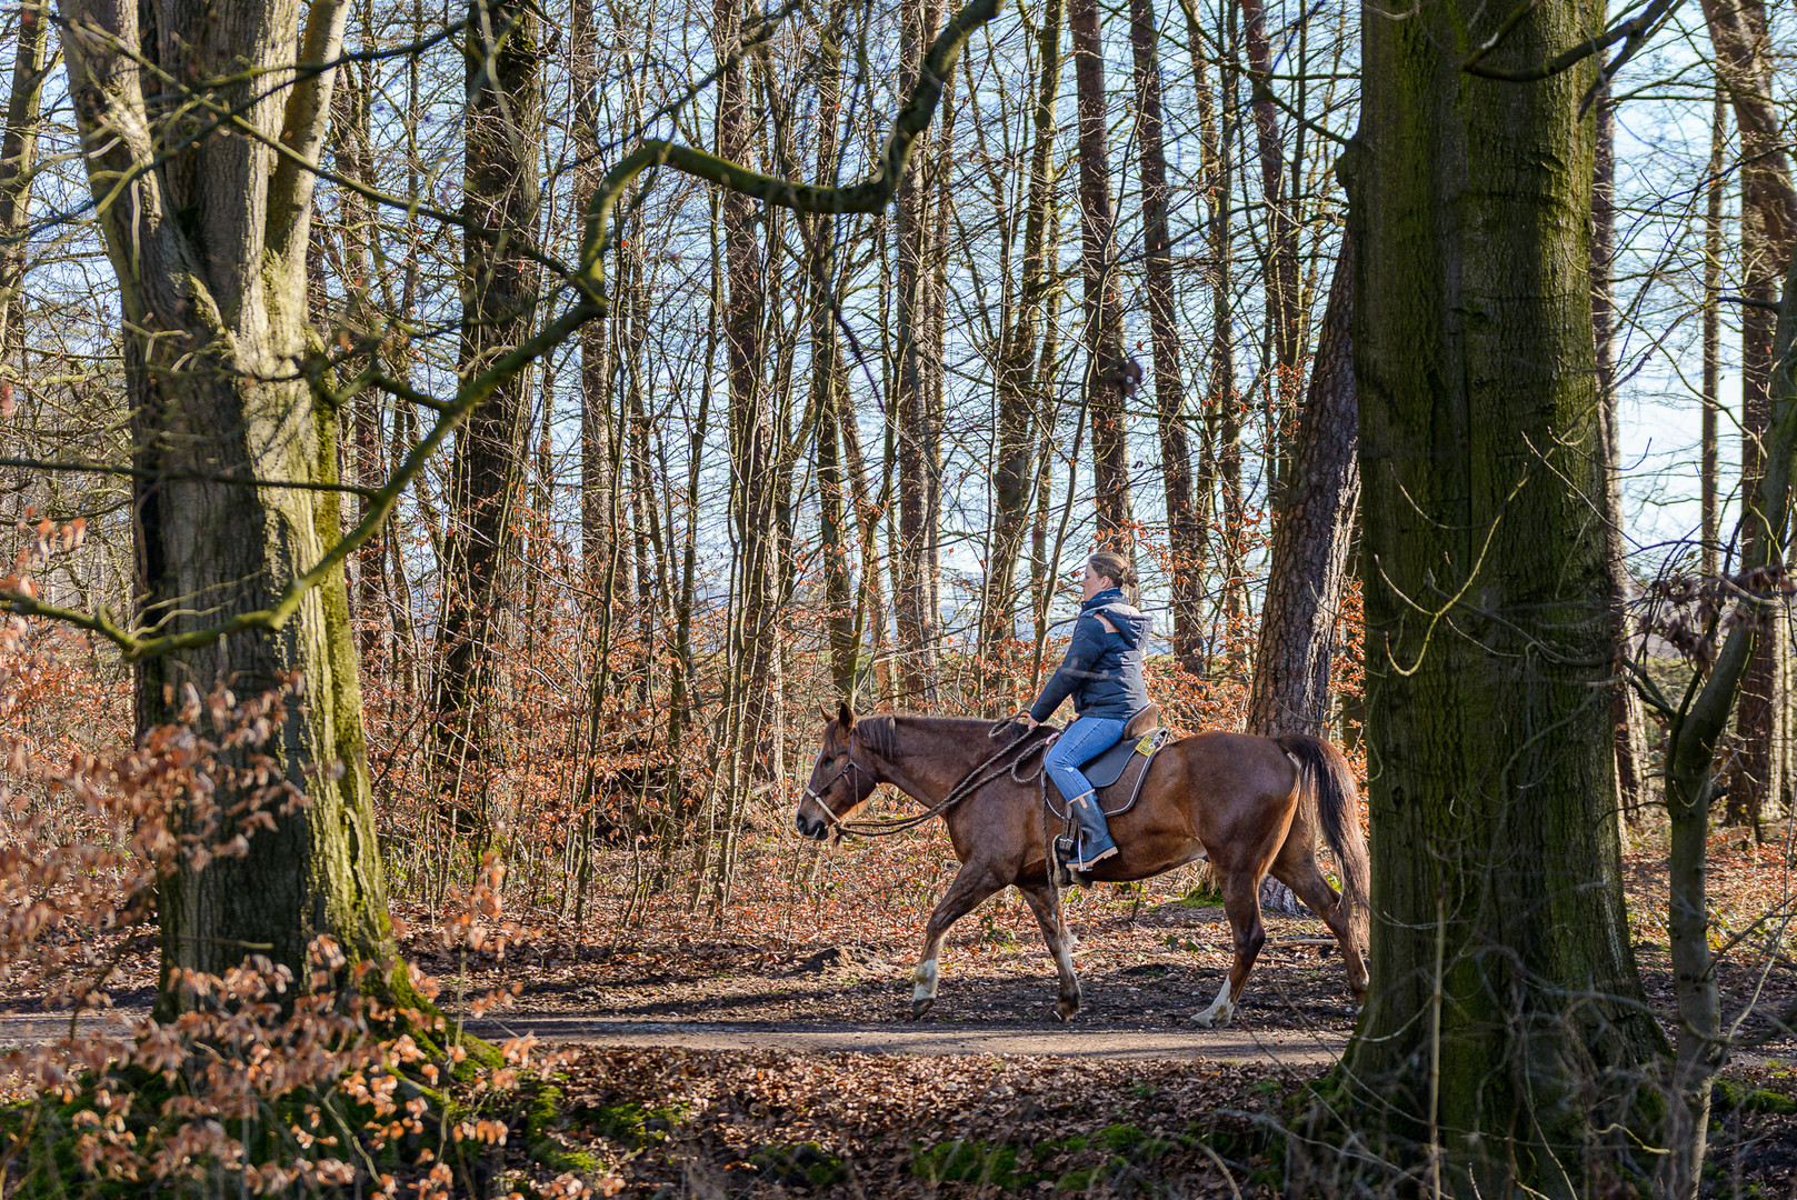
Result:
<svg viewBox="0 0 1797 1200">
<path fill-rule="evenodd" d="M 464 119 L 462 347 L 471 379 L 532 334 L 539 277 L 539 20 L 523 0 L 469 0 Z M 530 384 L 519 374 L 469 415 L 449 465 L 442 623 L 437 632 L 438 790 L 456 821 L 491 826 L 489 765 L 507 616 L 519 584 L 514 508 L 530 453 Z M 469 790 L 473 789 L 473 796 Z"/>
</svg>

